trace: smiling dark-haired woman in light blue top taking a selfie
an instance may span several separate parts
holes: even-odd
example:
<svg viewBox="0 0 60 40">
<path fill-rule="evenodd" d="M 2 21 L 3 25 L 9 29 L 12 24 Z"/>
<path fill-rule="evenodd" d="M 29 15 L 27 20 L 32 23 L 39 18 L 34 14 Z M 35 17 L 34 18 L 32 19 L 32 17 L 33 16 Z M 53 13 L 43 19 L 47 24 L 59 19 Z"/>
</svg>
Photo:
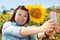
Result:
<svg viewBox="0 0 60 40">
<path fill-rule="evenodd" d="M 53 28 L 55 28 L 53 20 L 47 21 L 41 27 L 24 27 L 23 25 L 28 22 L 28 9 L 24 6 L 18 6 L 14 11 L 11 20 L 3 25 L 2 40 L 30 40 L 30 35 L 53 31 Z"/>
</svg>

